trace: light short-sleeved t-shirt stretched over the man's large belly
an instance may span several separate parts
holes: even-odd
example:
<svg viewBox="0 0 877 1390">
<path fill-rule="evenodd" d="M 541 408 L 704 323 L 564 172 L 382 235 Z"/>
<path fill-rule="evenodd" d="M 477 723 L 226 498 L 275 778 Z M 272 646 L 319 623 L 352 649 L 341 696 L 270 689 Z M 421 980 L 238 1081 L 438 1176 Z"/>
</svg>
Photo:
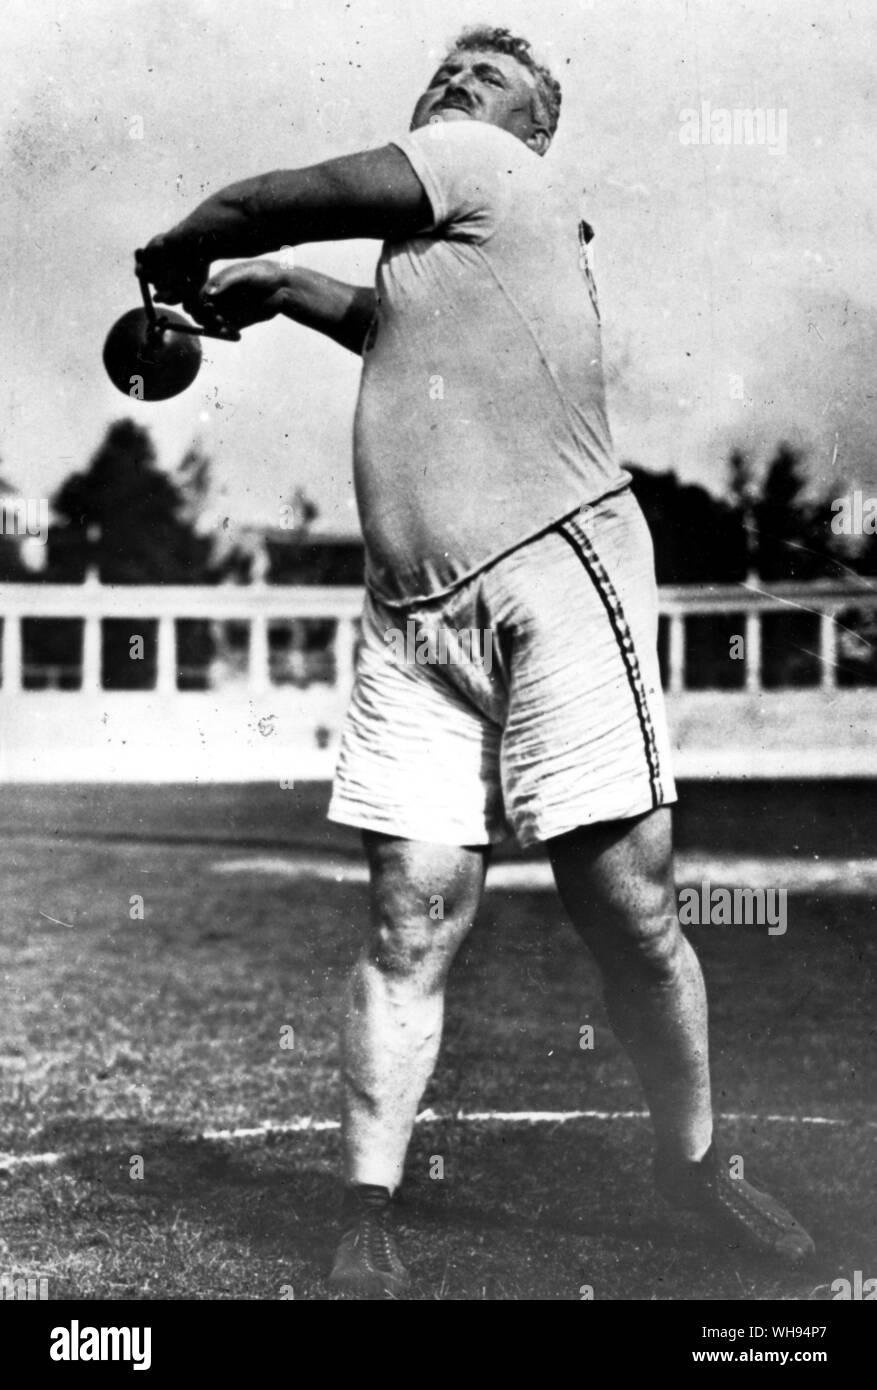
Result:
<svg viewBox="0 0 877 1390">
<path fill-rule="evenodd" d="M 606 420 L 580 195 L 499 126 L 395 145 L 434 225 L 385 242 L 354 424 L 367 581 L 435 596 L 630 475 Z"/>
</svg>

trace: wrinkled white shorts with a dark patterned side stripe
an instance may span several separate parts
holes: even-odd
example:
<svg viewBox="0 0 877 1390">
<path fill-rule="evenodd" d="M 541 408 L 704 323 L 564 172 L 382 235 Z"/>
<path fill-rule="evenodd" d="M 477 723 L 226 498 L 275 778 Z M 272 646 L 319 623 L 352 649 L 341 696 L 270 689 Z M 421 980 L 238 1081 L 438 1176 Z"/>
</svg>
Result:
<svg viewBox="0 0 877 1390">
<path fill-rule="evenodd" d="M 439 599 L 367 596 L 331 820 L 531 845 L 673 801 L 652 538 L 630 491 Z"/>
</svg>

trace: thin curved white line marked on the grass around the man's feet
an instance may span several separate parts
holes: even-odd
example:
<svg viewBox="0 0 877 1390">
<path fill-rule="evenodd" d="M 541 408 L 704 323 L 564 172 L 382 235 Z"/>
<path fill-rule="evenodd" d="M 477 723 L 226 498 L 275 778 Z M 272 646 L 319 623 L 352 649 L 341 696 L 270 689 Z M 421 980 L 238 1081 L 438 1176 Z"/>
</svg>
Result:
<svg viewBox="0 0 877 1390">
<path fill-rule="evenodd" d="M 575 1120 L 648 1120 L 648 1111 L 421 1111 L 417 1125 L 570 1125 Z M 752 1115 L 728 1111 L 717 1120 L 742 1125 L 826 1125 L 831 1129 L 877 1129 L 877 1120 L 849 1120 L 831 1115 Z M 270 1134 L 322 1133 L 341 1129 L 339 1120 L 318 1120 L 313 1115 L 296 1115 L 290 1120 L 265 1120 L 245 1129 L 202 1130 L 189 1134 L 189 1143 L 229 1144 L 246 1138 L 267 1138 Z M 51 1168 L 74 1156 L 76 1151 L 58 1154 L 0 1154 L 0 1173 L 13 1168 Z"/>
</svg>

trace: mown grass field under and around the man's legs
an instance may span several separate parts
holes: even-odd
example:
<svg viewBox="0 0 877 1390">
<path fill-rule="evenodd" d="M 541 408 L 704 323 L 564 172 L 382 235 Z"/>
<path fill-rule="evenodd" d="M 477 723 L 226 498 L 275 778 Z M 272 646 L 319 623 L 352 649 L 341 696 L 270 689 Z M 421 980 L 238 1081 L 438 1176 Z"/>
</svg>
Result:
<svg viewBox="0 0 877 1390">
<path fill-rule="evenodd" d="M 339 987 L 364 890 L 257 860 L 265 848 L 354 855 L 356 834 L 322 821 L 325 798 L 0 791 L 0 1272 L 46 1276 L 51 1298 L 327 1297 L 338 1133 L 282 1126 L 336 1116 Z M 864 855 L 876 801 L 866 785 L 692 787 L 680 840 Z M 247 856 L 252 872 L 222 872 Z M 745 1116 L 723 1123 L 724 1144 L 810 1227 L 810 1266 L 764 1268 L 664 1212 L 641 1119 L 429 1120 L 402 1209 L 413 1297 L 578 1300 L 589 1284 L 596 1300 L 806 1300 L 855 1269 L 877 1275 L 876 908 L 792 894 L 784 937 L 689 933 L 710 990 L 717 1109 Z M 593 1051 L 580 1049 L 584 1023 Z M 485 895 L 424 1105 L 642 1108 L 552 894 Z M 203 1137 L 261 1123 L 277 1130 Z"/>
</svg>

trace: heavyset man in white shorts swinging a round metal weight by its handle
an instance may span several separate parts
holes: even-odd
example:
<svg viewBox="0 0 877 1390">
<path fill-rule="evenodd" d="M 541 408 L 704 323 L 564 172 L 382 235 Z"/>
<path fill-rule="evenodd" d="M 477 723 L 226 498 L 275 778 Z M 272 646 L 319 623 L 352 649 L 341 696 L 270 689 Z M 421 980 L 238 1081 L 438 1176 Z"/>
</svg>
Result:
<svg viewBox="0 0 877 1390">
<path fill-rule="evenodd" d="M 146 249 L 160 299 L 238 325 L 288 314 L 364 359 L 367 600 L 329 808 L 361 828 L 371 876 L 331 1275 L 364 1297 L 407 1283 L 392 1198 L 448 970 L 509 828 L 546 844 L 599 963 L 659 1188 L 763 1254 L 813 1248 L 713 1144 L 703 980 L 675 910 L 652 548 L 606 421 L 589 229 L 542 160 L 559 110 L 525 40 L 468 31 L 406 136 L 224 189 Z M 384 240 L 374 291 L 265 261 L 210 278 L 217 259 L 354 236 Z M 484 642 L 481 660 L 460 644 L 435 660 L 460 631 L 489 637 L 489 669 Z"/>
</svg>

